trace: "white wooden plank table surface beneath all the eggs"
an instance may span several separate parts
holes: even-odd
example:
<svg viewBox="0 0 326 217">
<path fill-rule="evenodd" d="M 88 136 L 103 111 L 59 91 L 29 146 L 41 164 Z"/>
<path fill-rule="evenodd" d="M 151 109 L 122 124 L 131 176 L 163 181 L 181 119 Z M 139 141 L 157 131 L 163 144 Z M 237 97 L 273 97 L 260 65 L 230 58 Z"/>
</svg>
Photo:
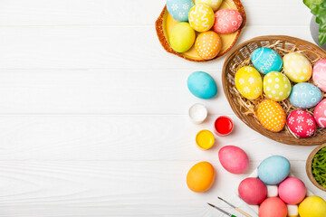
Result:
<svg viewBox="0 0 326 217">
<path fill-rule="evenodd" d="M 164 0 L 0 0 L 0 216 L 222 216 L 206 205 L 235 197 L 236 183 L 218 162 L 221 146 L 242 147 L 251 170 L 266 156 L 291 160 L 305 174 L 313 147 L 285 146 L 246 127 L 230 109 L 221 83 L 224 58 L 184 61 L 165 52 L 154 22 Z M 302 1 L 244 0 L 244 42 L 264 34 L 312 41 Z M 216 99 L 187 90 L 187 76 L 206 71 Z M 195 126 L 187 109 L 210 112 Z M 235 131 L 197 149 L 199 129 L 228 115 Z M 187 170 L 216 167 L 207 193 L 187 189 Z M 225 208 L 229 210 L 228 208 Z M 239 215 L 240 216 L 240 215 Z"/>
</svg>

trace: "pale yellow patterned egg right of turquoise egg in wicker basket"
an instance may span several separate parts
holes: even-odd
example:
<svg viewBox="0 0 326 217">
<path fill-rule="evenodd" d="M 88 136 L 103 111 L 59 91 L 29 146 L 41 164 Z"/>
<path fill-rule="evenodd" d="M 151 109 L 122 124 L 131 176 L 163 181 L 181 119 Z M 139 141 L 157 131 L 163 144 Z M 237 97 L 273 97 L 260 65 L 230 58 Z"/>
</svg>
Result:
<svg viewBox="0 0 326 217">
<path fill-rule="evenodd" d="M 290 52 L 283 56 L 283 70 L 293 82 L 305 82 L 312 77 L 311 62 L 299 52 Z"/>
</svg>

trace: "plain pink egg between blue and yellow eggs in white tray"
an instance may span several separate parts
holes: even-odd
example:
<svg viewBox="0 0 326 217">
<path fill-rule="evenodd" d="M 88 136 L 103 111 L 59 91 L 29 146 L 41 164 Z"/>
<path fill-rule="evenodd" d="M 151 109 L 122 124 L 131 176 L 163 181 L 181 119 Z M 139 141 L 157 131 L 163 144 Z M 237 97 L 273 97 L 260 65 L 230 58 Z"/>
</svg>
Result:
<svg viewBox="0 0 326 217">
<path fill-rule="evenodd" d="M 307 193 L 303 182 L 295 177 L 285 179 L 279 185 L 279 196 L 284 203 L 295 205 L 301 203 Z"/>
</svg>

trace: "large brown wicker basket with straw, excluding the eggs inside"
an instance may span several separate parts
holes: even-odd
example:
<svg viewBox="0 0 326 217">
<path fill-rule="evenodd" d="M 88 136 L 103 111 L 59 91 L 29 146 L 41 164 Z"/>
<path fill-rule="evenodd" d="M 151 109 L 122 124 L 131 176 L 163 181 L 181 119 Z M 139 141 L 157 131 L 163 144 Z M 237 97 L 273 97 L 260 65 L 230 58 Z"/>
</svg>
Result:
<svg viewBox="0 0 326 217">
<path fill-rule="evenodd" d="M 309 138 L 293 137 L 292 134 L 286 129 L 283 129 L 281 132 L 274 133 L 264 128 L 253 115 L 245 115 L 247 110 L 240 105 L 238 100 L 239 96 L 236 94 L 234 89 L 235 69 L 241 63 L 243 63 L 243 61 L 248 60 L 251 53 L 254 52 L 254 49 L 258 47 L 266 47 L 275 43 L 276 47 L 283 50 L 292 50 L 293 47 L 296 47 L 297 50 L 304 51 L 302 53 L 310 61 L 326 58 L 326 52 L 317 45 L 290 36 L 266 35 L 243 42 L 236 46 L 225 59 L 222 71 L 222 82 L 225 97 L 228 100 L 231 108 L 234 110 L 235 115 L 245 122 L 247 126 L 262 134 L 264 137 L 269 137 L 277 142 L 294 146 L 317 146 L 324 144 L 326 143 L 326 137 L 324 136 L 326 129 L 319 131 L 318 134 Z"/>
</svg>

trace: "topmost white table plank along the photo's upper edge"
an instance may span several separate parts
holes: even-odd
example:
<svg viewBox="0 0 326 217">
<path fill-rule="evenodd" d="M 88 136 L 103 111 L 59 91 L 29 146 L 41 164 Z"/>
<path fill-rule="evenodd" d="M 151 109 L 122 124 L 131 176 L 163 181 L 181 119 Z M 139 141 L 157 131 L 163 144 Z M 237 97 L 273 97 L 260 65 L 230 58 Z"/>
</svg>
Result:
<svg viewBox="0 0 326 217">
<path fill-rule="evenodd" d="M 0 25 L 152 25 L 166 0 L 4 0 Z M 297 0 L 242 1 L 252 25 L 308 25 L 312 15 Z"/>
</svg>

